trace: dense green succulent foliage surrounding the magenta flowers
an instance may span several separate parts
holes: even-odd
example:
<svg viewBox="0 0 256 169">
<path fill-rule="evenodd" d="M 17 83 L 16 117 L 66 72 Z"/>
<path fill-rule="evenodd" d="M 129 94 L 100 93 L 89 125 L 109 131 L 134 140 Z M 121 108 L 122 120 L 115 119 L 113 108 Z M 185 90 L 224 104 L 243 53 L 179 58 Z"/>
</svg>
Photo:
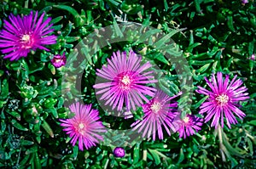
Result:
<svg viewBox="0 0 256 169">
<path fill-rule="evenodd" d="M 255 1 L 244 5 L 237 1 L 155 1 L 155 0 L 70 0 L 46 1 L 26 0 L 0 2 L 0 26 L 9 14 L 29 14 L 31 10 L 45 12 L 54 24 L 57 43 L 50 51 L 37 50 L 26 58 L 10 62 L 0 60 L 0 167 L 3 168 L 255 168 L 256 167 L 256 62 L 249 59 L 256 53 L 256 9 Z M 154 30 L 126 32 L 131 41 L 108 44 L 90 57 L 88 43 L 81 48 L 87 65 L 78 63 L 71 67 L 56 69 L 50 64 L 55 54 L 66 53 L 76 59 L 78 51 L 73 49 L 81 40 L 96 29 L 113 25 L 116 37 L 122 37 L 119 23 L 136 22 Z M 166 35 L 154 42 L 153 37 L 161 31 Z M 140 41 L 132 39 L 140 37 Z M 173 43 L 169 44 L 170 39 Z M 148 40 L 149 39 L 149 40 Z M 148 40 L 148 44 L 143 42 Z M 169 45 L 166 45 L 169 44 Z M 95 46 L 93 46 L 95 47 Z M 107 62 L 113 51 L 134 49 L 153 64 L 159 65 L 159 87 L 169 95 L 195 90 L 206 86 L 205 76 L 222 71 L 231 76 L 238 75 L 250 93 L 250 99 L 242 105 L 246 113 L 243 121 L 232 125 L 232 129 L 214 130 L 204 124 L 202 130 L 187 139 L 178 138 L 177 133 L 164 140 L 144 139 L 136 144 L 125 143 L 130 133 L 113 132 L 106 138 L 109 146 L 98 144 L 83 152 L 72 146 L 70 138 L 61 131 L 59 119 L 72 114 L 65 108 L 61 91 L 73 99 L 76 73 L 84 71 L 82 96 L 84 103 L 99 107 L 92 85 L 96 69 Z M 178 50 L 181 48 L 181 51 Z M 166 58 L 160 52 L 182 56 L 189 63 L 177 76 L 177 60 Z M 75 69 L 79 67 L 79 69 Z M 187 75 L 186 69 L 192 75 Z M 157 71 L 157 70 L 156 70 Z M 73 73 L 65 84 L 61 76 Z M 163 73 L 164 72 L 164 73 Z M 193 85 L 186 84 L 191 77 Z M 61 88 L 62 87 L 62 88 Z M 194 87 L 194 88 L 193 88 Z M 185 95 L 183 99 L 187 99 Z M 183 106 L 183 99 L 179 103 Z M 189 112 L 197 115 L 199 106 L 205 101 L 193 93 Z M 185 111 L 185 110 L 184 110 Z M 100 110 L 106 126 L 125 130 L 133 120 L 142 117 L 135 112 L 134 118 L 108 117 Z M 167 136 L 167 135 L 165 135 Z M 125 144 L 124 144 L 125 143 Z M 116 144 L 125 148 L 125 158 L 115 158 Z"/>
</svg>

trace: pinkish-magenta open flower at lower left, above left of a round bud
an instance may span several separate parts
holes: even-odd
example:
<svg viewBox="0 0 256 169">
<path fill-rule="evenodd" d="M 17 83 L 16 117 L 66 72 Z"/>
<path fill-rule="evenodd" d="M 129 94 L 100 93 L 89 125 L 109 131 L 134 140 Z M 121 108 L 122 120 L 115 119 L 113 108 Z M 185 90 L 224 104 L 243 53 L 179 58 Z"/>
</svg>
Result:
<svg viewBox="0 0 256 169">
<path fill-rule="evenodd" d="M 91 109 L 91 104 L 83 105 L 79 102 L 71 104 L 69 109 L 75 114 L 71 119 L 60 119 L 61 127 L 65 127 L 63 131 L 69 134 L 71 144 L 73 146 L 79 140 L 79 149 L 89 149 L 92 146 L 96 146 L 99 140 L 103 140 L 103 137 L 98 132 L 106 132 L 105 127 L 102 125 L 98 110 Z"/>
</svg>

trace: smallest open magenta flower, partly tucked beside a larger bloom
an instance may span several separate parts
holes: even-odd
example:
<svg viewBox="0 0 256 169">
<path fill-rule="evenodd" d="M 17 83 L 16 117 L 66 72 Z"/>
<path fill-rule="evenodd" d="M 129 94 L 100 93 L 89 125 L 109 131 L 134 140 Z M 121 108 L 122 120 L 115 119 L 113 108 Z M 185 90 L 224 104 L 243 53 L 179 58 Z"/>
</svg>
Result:
<svg viewBox="0 0 256 169">
<path fill-rule="evenodd" d="M 179 138 L 187 138 L 201 130 L 203 119 L 195 115 L 185 115 L 183 119 L 175 121 Z"/>
</svg>

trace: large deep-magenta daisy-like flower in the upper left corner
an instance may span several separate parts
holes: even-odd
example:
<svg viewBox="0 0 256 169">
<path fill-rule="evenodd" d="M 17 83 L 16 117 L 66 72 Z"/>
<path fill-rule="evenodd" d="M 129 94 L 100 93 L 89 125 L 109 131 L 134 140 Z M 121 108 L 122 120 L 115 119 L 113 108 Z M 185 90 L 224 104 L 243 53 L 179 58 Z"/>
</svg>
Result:
<svg viewBox="0 0 256 169">
<path fill-rule="evenodd" d="M 55 44 L 56 37 L 49 35 L 54 29 L 49 24 L 50 18 L 44 20 L 42 14 L 38 19 L 38 12 L 20 17 L 10 14 L 9 21 L 3 20 L 3 30 L 0 32 L 0 48 L 4 59 L 12 60 L 26 57 L 31 50 L 37 48 L 49 51 L 44 45 Z"/>
</svg>

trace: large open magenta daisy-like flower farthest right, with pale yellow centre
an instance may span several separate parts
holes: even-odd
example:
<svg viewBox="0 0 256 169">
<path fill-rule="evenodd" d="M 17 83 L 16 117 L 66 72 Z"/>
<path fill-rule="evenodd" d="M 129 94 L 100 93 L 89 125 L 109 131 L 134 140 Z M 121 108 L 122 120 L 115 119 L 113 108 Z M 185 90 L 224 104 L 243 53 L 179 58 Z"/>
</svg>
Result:
<svg viewBox="0 0 256 169">
<path fill-rule="evenodd" d="M 241 106 L 238 104 L 239 101 L 249 99 L 248 93 L 245 93 L 247 87 L 241 87 L 242 82 L 240 79 L 236 79 L 236 76 L 231 82 L 228 75 L 223 79 L 221 72 L 217 73 L 217 81 L 214 74 L 212 74 L 212 82 L 209 82 L 207 78 L 205 80 L 212 91 L 208 91 L 203 87 L 198 87 L 199 89 L 196 90 L 197 93 L 208 96 L 207 101 L 201 104 L 200 114 L 207 113 L 205 120 L 207 122 L 212 119 L 211 127 L 217 128 L 219 120 L 221 120 L 221 126 L 224 127 L 224 116 L 228 127 L 230 127 L 230 124 L 236 124 L 235 115 L 240 119 L 245 116 L 237 107 Z"/>
</svg>

